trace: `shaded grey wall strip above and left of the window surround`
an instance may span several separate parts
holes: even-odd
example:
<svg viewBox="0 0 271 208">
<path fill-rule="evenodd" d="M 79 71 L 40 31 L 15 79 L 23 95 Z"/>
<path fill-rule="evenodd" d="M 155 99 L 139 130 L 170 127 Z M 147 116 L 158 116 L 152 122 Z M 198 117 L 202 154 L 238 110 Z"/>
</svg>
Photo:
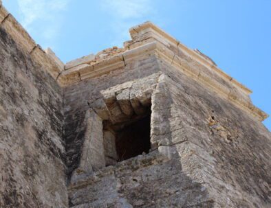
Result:
<svg viewBox="0 0 271 208">
<path fill-rule="evenodd" d="M 64 90 L 64 139 L 67 150 L 67 174 L 71 176 L 72 171 L 78 166 L 80 161 L 81 148 L 83 148 L 86 126 L 86 113 L 91 110 L 91 106 L 103 108 L 105 102 L 102 101 L 102 90 L 109 89 L 110 86 L 122 84 L 123 82 L 137 82 L 142 78 L 158 72 L 158 62 L 153 57 L 143 57 L 138 62 L 127 63 L 126 67 L 120 67 L 105 76 L 97 77 L 84 82 L 78 82 L 67 86 Z M 92 104 L 93 103 L 93 104 Z M 100 117 L 105 119 L 107 113 L 99 111 Z M 102 115 L 104 114 L 104 115 Z"/>
</svg>

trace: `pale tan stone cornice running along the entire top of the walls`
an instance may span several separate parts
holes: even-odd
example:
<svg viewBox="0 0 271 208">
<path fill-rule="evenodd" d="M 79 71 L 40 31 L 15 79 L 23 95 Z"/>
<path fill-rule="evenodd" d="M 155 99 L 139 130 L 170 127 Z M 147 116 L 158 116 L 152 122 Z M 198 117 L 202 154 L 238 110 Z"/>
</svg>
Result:
<svg viewBox="0 0 271 208">
<path fill-rule="evenodd" d="M 0 1 L 1 3 L 1 1 Z M 214 62 L 188 49 L 185 45 L 175 38 L 166 34 L 152 23 L 143 23 L 130 29 L 131 41 L 124 43 L 122 49 L 111 49 L 105 51 L 105 56 L 90 55 L 81 58 L 79 61 L 70 62 L 69 65 L 63 65 L 61 60 L 56 58 L 51 50 L 46 52 L 36 45 L 23 27 L 9 14 L 0 4 L 0 27 L 8 32 L 14 41 L 44 69 L 61 86 L 69 86 L 81 80 L 87 80 L 110 73 L 113 70 L 125 67 L 129 62 L 140 58 L 141 56 L 153 55 L 160 60 L 180 70 L 186 76 L 212 89 L 221 97 L 226 98 L 235 106 L 243 109 L 250 115 L 253 115 L 260 121 L 268 117 L 266 113 L 254 106 L 248 95 L 251 91 L 243 86 L 226 73 L 221 71 Z M 190 60 L 197 62 L 197 65 L 203 67 L 205 71 L 197 67 L 189 67 L 184 64 L 182 54 L 185 54 Z M 222 80 L 222 81 L 221 81 Z M 226 84 L 225 84 L 226 83 Z M 230 87 L 228 87 L 230 86 Z M 239 93 L 236 93 L 235 90 Z M 239 95 L 242 94 L 242 97 Z M 245 97 L 245 98 L 243 98 Z"/>
</svg>

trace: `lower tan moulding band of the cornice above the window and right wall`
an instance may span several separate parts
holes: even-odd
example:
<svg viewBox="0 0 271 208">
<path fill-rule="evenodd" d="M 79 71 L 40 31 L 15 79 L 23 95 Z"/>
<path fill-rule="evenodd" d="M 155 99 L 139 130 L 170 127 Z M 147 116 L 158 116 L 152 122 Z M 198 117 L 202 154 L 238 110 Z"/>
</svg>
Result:
<svg viewBox="0 0 271 208">
<path fill-rule="evenodd" d="M 226 100 L 229 100 L 230 102 L 232 102 L 232 104 L 235 104 L 235 106 L 242 108 L 243 111 L 246 111 L 250 115 L 253 115 L 258 120 L 263 121 L 265 118 L 268 117 L 266 113 L 251 104 L 251 102 L 241 99 L 238 94 L 229 89 L 226 85 L 217 82 L 217 80 L 211 78 L 210 76 L 208 76 L 208 74 L 199 71 L 198 69 L 194 69 L 193 67 L 184 67 L 180 62 L 180 58 L 176 54 L 174 54 L 173 51 L 171 51 L 167 47 L 164 47 L 164 45 L 158 41 L 146 43 L 139 47 L 124 51 L 122 54 L 118 54 L 107 60 L 103 60 L 102 62 L 96 62 L 94 63 L 94 65 L 89 65 L 89 67 L 93 66 L 94 68 L 93 70 L 89 70 L 87 72 L 84 71 L 84 78 L 87 79 L 101 76 L 102 74 L 109 73 L 110 71 L 119 69 L 120 67 L 124 67 L 125 63 L 129 63 L 135 58 L 138 59 L 146 55 L 157 56 L 161 60 L 168 62 L 177 70 L 181 70 L 182 73 L 186 74 L 186 76 L 193 78 L 193 80 L 203 84 L 204 86 L 208 87 L 208 89 L 215 91 L 218 95 L 224 97 Z M 122 58 L 120 58 L 121 56 L 123 60 Z M 102 65 L 102 67 L 99 67 L 99 65 Z M 79 74 L 80 70 L 82 69 L 78 70 Z M 66 70 L 65 73 L 62 73 L 61 79 L 63 79 L 63 82 L 61 82 L 61 85 L 65 86 L 67 84 L 72 84 L 72 80 L 69 79 L 68 76 L 72 76 L 73 73 L 73 68 Z M 67 82 L 65 80 L 67 80 Z M 77 78 L 74 80 L 79 81 L 80 79 Z"/>
</svg>

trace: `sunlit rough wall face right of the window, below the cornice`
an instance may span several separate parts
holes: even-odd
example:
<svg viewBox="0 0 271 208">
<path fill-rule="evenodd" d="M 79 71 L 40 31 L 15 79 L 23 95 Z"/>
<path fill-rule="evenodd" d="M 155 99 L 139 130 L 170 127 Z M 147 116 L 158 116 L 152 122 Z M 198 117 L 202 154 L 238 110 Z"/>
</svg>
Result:
<svg viewBox="0 0 271 208">
<path fill-rule="evenodd" d="M 167 128 L 153 119 L 157 129 L 151 139 L 161 143 L 158 150 L 177 150 L 182 170 L 208 190 L 214 207 L 270 207 L 270 132 L 216 93 L 167 64 L 160 66 L 168 71 L 172 104 L 167 116 L 160 115 L 168 117 Z M 160 111 L 162 106 L 158 102 Z"/>
</svg>

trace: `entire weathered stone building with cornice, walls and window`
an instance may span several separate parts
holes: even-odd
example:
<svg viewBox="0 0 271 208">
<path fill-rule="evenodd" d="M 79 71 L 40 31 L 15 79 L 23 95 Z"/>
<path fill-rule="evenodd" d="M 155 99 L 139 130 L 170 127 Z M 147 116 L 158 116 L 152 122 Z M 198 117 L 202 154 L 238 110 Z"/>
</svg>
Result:
<svg viewBox="0 0 271 208">
<path fill-rule="evenodd" d="M 0 8 L 0 207 L 271 207 L 251 91 L 152 23 L 65 65 Z"/>
</svg>

